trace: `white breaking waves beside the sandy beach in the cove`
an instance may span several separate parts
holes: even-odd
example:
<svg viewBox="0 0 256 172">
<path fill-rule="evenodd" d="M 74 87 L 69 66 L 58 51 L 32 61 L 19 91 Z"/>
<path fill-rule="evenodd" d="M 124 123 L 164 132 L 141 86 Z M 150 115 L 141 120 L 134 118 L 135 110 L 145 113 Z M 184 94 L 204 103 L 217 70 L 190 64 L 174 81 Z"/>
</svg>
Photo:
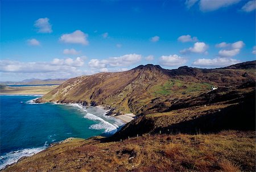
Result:
<svg viewBox="0 0 256 172">
<path fill-rule="evenodd" d="M 101 121 L 101 123 L 99 124 L 93 124 L 89 127 L 89 129 L 105 129 L 105 133 L 114 133 L 117 131 L 117 127 L 115 127 L 115 125 L 110 124 L 108 121 L 105 121 L 104 119 L 87 113 L 85 114 L 84 118 L 90 119 L 90 120 L 99 120 Z"/>
</svg>

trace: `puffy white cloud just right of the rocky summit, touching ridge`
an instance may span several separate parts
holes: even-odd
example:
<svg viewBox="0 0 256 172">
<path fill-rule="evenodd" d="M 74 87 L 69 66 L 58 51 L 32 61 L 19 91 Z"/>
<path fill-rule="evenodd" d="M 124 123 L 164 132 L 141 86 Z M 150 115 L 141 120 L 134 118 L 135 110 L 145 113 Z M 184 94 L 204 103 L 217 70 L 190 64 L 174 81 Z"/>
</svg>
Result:
<svg viewBox="0 0 256 172">
<path fill-rule="evenodd" d="M 185 58 L 177 56 L 176 54 L 170 56 L 161 56 L 159 64 L 162 66 L 179 66 L 187 62 Z"/>
</svg>

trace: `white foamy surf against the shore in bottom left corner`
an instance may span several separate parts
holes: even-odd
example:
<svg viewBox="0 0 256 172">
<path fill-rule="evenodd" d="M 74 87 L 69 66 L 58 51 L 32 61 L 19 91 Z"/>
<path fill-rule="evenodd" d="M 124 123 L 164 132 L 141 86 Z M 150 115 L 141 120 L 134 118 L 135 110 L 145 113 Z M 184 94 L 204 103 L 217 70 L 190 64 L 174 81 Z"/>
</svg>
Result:
<svg viewBox="0 0 256 172">
<path fill-rule="evenodd" d="M 47 148 L 46 145 L 47 144 L 39 148 L 27 148 L 6 153 L 0 157 L 0 170 L 5 168 L 7 165 L 17 162 L 22 157 L 30 157 L 38 152 L 41 152 Z"/>
</svg>

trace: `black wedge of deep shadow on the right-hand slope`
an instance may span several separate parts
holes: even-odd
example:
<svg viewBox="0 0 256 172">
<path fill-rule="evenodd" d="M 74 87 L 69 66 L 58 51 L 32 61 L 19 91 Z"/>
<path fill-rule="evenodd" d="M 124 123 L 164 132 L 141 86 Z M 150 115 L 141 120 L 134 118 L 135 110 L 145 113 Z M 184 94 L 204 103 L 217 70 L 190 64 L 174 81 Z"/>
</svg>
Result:
<svg viewBox="0 0 256 172">
<path fill-rule="evenodd" d="M 221 130 L 251 130 L 255 131 L 255 91 L 249 94 L 243 102 L 223 108 L 213 114 L 182 121 L 168 127 L 157 128 L 154 133 L 212 133 Z"/>
</svg>

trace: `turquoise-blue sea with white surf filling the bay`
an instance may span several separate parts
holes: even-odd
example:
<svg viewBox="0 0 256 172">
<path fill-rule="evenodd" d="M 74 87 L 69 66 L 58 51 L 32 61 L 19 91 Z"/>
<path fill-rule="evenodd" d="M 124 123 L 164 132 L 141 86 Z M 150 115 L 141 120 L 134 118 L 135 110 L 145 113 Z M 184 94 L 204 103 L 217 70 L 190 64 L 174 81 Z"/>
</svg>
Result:
<svg viewBox="0 0 256 172">
<path fill-rule="evenodd" d="M 39 95 L 0 95 L 0 169 L 69 137 L 112 135 L 123 123 L 79 104 L 33 103 Z"/>
</svg>

